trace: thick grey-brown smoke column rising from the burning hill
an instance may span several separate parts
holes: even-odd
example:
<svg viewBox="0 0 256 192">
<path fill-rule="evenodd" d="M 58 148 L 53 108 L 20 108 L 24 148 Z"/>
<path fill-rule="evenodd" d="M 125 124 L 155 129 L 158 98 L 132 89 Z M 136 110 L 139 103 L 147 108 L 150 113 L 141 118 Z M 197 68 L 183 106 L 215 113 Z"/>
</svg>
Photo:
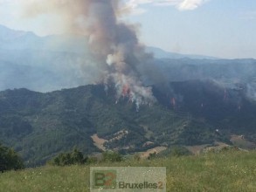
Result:
<svg viewBox="0 0 256 192">
<path fill-rule="evenodd" d="M 38 0 L 27 3 L 29 17 L 57 14 L 65 30 L 88 37 L 95 65 L 99 66 L 100 81 L 114 83 L 117 99 L 128 97 L 137 106 L 155 99 L 151 88 L 142 86 L 137 71 L 140 63 L 148 62 L 147 55 L 136 36 L 135 26 L 121 22 L 121 1 L 117 0 Z M 58 27 L 58 26 L 57 26 Z"/>
</svg>

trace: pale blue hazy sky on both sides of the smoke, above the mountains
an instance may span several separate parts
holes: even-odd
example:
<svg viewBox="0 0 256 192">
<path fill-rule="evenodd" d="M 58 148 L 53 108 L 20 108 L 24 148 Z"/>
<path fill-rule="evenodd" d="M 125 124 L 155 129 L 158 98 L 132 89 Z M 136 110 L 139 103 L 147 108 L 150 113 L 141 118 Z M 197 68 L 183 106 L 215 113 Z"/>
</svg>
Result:
<svg viewBox="0 0 256 192">
<path fill-rule="evenodd" d="M 30 1 L 0 0 L 0 24 L 38 35 L 61 32 L 51 26 L 49 17 L 21 18 L 22 2 Z M 219 58 L 256 58 L 255 0 L 126 0 L 126 3 L 132 13 L 125 19 L 141 24 L 139 36 L 146 45 Z"/>
</svg>

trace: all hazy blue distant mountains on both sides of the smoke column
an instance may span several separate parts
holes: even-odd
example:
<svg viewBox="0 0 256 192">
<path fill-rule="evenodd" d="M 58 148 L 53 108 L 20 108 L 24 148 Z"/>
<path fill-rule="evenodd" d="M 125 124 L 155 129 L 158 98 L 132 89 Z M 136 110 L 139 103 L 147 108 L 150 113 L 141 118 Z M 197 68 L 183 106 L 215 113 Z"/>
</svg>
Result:
<svg viewBox="0 0 256 192">
<path fill-rule="evenodd" d="M 146 51 L 155 55 L 155 62 L 151 65 L 139 66 L 146 85 L 189 79 L 215 79 L 225 86 L 250 83 L 254 89 L 254 59 L 229 60 L 183 55 L 155 47 L 146 47 Z M 51 92 L 92 84 L 96 80 L 93 79 L 95 76 L 85 37 L 38 37 L 32 32 L 13 31 L 0 25 L 0 90 L 28 88 Z"/>
</svg>

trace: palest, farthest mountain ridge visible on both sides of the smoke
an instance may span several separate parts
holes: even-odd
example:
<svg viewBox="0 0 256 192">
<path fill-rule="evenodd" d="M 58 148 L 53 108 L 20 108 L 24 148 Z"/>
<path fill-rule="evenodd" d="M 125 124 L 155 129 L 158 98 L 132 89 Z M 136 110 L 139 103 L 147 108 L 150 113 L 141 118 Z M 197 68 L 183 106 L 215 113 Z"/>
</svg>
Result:
<svg viewBox="0 0 256 192">
<path fill-rule="evenodd" d="M 2 50 L 47 50 L 87 52 L 86 38 L 75 35 L 52 35 L 38 37 L 33 32 L 14 31 L 0 24 L 0 49 Z M 218 59 L 203 55 L 188 55 L 163 51 L 156 47 L 146 47 L 156 58 Z"/>
</svg>

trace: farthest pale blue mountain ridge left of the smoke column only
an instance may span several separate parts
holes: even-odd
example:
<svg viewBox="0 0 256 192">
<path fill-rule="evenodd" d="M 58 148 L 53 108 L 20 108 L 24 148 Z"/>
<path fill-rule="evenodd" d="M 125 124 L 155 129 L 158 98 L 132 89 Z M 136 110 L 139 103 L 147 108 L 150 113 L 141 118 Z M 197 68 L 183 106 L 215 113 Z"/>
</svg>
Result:
<svg viewBox="0 0 256 192">
<path fill-rule="evenodd" d="M 39 37 L 33 32 L 14 31 L 0 24 L 0 49 L 85 52 L 86 38 L 75 35 Z"/>
</svg>

